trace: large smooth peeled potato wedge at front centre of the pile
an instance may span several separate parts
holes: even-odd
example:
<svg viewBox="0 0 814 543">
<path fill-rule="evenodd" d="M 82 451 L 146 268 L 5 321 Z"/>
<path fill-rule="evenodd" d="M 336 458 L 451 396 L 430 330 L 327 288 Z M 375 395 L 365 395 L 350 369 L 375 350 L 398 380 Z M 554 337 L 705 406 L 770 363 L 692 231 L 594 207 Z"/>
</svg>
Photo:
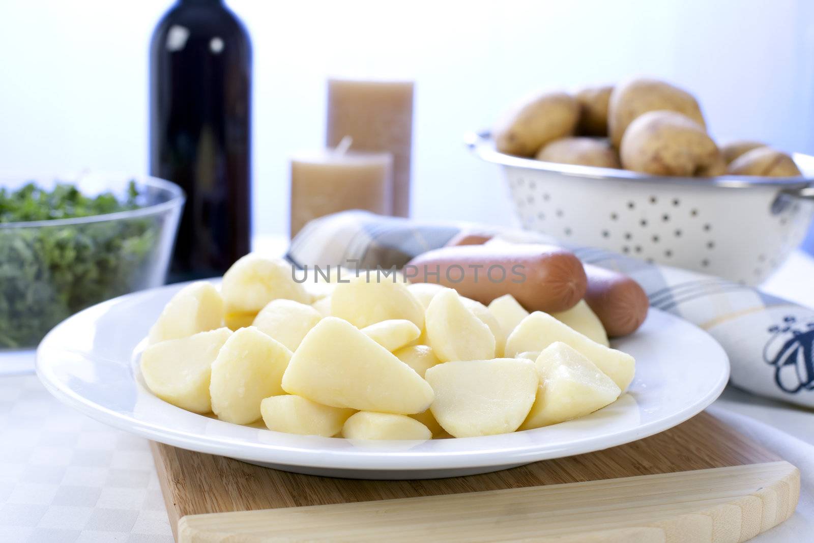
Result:
<svg viewBox="0 0 814 543">
<path fill-rule="evenodd" d="M 411 367 L 352 324 L 326 317 L 297 348 L 282 388 L 334 407 L 414 414 L 432 403 L 432 388 Z"/>
</svg>

